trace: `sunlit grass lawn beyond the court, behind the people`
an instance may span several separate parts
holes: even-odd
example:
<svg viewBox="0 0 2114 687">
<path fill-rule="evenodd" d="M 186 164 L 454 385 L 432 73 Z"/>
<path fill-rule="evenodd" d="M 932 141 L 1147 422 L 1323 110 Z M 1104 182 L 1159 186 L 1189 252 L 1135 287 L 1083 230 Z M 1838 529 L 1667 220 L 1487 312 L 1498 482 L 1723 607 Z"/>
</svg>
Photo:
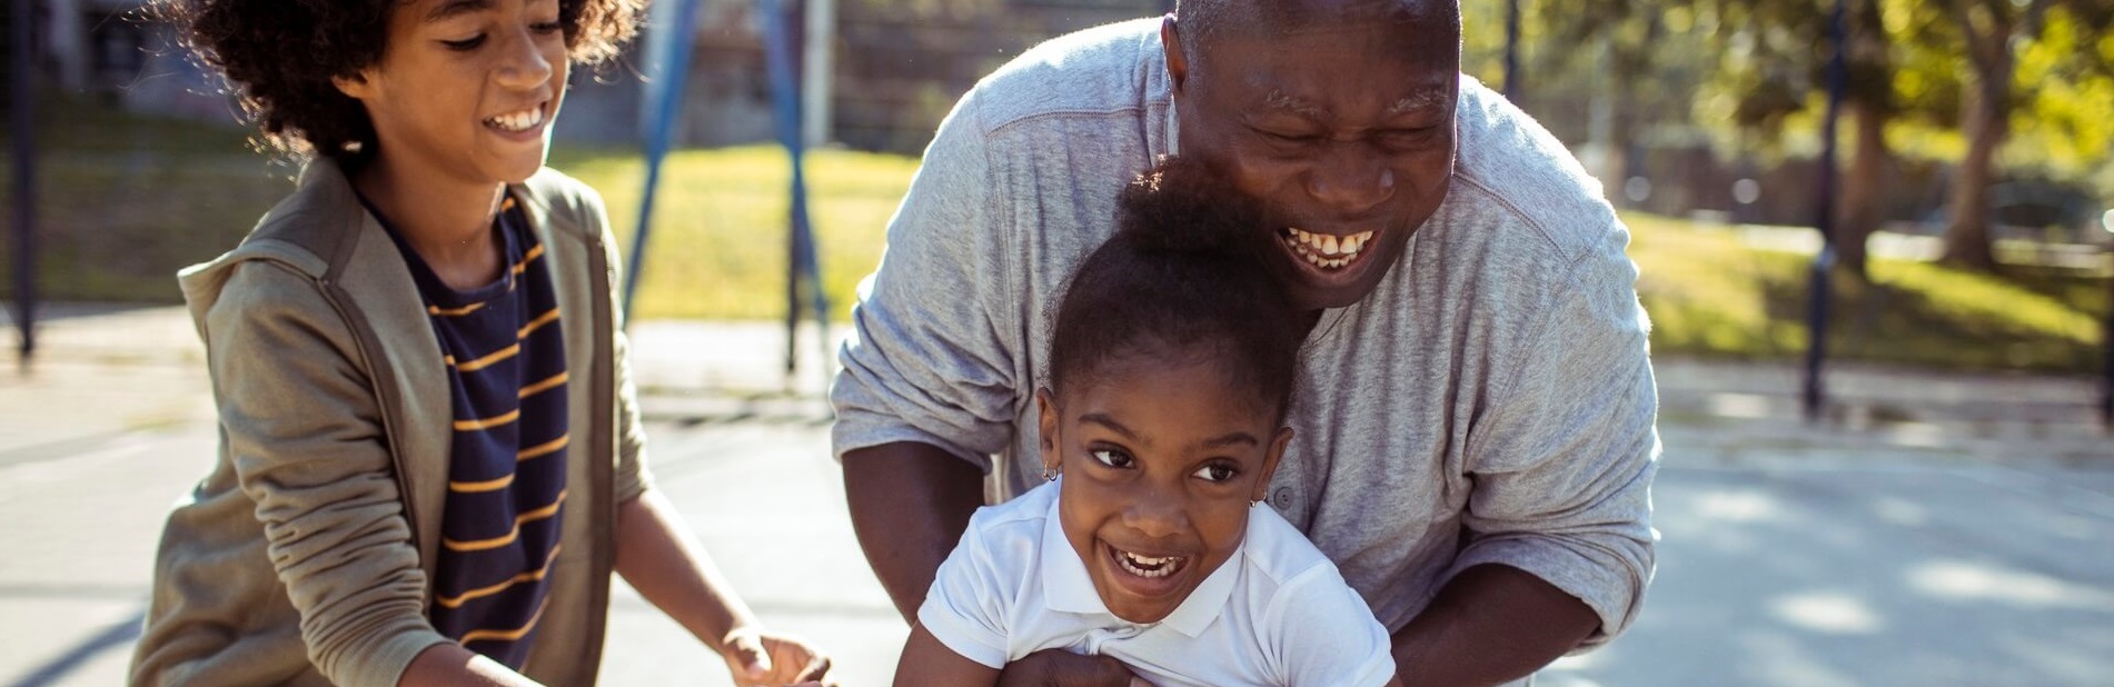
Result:
<svg viewBox="0 0 2114 687">
<path fill-rule="evenodd" d="M 235 245 L 292 169 L 243 133 L 61 106 L 40 133 L 40 283 L 53 300 L 180 300 L 173 273 Z M 824 290 L 841 319 L 879 260 L 884 228 L 917 161 L 814 152 L 810 213 Z M 630 150 L 558 148 L 552 167 L 596 186 L 619 241 L 636 230 L 645 169 Z M 4 178 L 0 169 L 0 178 Z M 786 159 L 776 148 L 683 150 L 668 159 L 636 317 L 784 317 Z M 0 205 L 11 203 L 0 184 Z M 1807 258 L 1738 233 L 1626 216 L 1655 353 L 1788 359 L 1805 351 Z M 0 292 L 13 266 L 0 241 Z M 628 247 L 628 245 L 626 245 Z M 1873 283 L 1837 277 L 1837 359 L 1970 370 L 2101 368 L 2108 277 L 2013 268 L 2006 277 L 1873 262 Z"/>
</svg>

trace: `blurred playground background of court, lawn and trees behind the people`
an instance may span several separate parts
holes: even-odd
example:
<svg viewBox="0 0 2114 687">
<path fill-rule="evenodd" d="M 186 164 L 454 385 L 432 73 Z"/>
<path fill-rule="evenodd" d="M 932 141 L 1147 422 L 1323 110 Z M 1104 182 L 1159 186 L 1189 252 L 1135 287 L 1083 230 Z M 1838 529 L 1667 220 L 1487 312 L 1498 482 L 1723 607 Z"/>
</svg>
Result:
<svg viewBox="0 0 2114 687">
<path fill-rule="evenodd" d="M 11 2 L 0 685 L 106 685 L 159 516 L 211 459 L 173 273 L 296 167 L 140 2 Z M 550 163 L 643 245 L 664 486 L 860 685 L 905 628 L 827 450 L 852 290 L 977 78 L 1167 8 L 662 2 L 575 72 Z M 1463 23 L 1463 70 L 1630 226 L 1659 372 L 1659 579 L 1630 636 L 1543 683 L 2114 685 L 2114 0 L 1465 0 Z M 609 683 L 717 670 L 619 600 Z"/>
</svg>

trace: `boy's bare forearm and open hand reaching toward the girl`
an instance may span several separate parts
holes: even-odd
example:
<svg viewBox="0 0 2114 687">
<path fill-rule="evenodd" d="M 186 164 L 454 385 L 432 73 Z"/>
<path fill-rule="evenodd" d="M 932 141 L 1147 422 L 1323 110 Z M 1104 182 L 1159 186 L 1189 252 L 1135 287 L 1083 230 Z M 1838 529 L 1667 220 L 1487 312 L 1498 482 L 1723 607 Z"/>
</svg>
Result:
<svg viewBox="0 0 2114 687">
<path fill-rule="evenodd" d="M 829 681 L 829 657 L 801 638 L 763 632 L 748 605 L 657 490 L 617 507 L 617 573 L 641 596 L 727 660 L 736 683 Z"/>
</svg>

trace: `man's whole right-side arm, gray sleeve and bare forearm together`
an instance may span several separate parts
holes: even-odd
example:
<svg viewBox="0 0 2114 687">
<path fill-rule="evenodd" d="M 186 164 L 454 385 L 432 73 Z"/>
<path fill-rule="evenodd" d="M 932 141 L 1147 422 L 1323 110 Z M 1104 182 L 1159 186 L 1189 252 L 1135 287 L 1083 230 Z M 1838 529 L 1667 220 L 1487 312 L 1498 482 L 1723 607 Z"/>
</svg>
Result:
<svg viewBox="0 0 2114 687">
<path fill-rule="evenodd" d="M 1657 393 L 1615 224 L 1554 290 L 1469 431 L 1467 545 L 1393 636 L 1404 685 L 1495 685 L 1607 643 L 1653 569 Z"/>
</svg>

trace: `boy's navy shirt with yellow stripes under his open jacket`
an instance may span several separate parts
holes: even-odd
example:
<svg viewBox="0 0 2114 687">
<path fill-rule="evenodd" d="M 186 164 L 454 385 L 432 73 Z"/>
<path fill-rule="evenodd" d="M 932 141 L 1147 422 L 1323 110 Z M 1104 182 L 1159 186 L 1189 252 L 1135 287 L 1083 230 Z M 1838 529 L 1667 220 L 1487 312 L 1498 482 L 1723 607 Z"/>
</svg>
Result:
<svg viewBox="0 0 2114 687">
<path fill-rule="evenodd" d="M 507 268 L 499 281 L 457 292 L 389 228 L 440 336 L 452 393 L 433 630 L 518 670 L 560 547 L 567 370 L 543 245 L 512 197 L 493 233 Z"/>
</svg>

